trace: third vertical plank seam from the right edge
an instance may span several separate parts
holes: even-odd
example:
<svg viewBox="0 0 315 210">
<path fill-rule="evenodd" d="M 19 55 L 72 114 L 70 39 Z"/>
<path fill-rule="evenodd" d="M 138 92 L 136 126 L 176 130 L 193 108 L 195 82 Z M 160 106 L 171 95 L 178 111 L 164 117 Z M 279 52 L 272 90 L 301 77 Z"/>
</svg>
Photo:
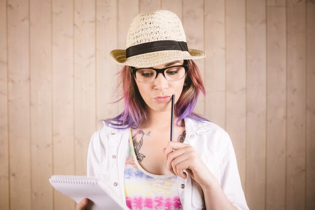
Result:
<svg viewBox="0 0 315 210">
<path fill-rule="evenodd" d="M 265 26 L 265 56 L 266 56 L 266 81 L 265 81 L 265 96 L 266 96 L 266 115 L 265 115 L 265 210 L 267 210 L 267 151 L 268 151 L 268 6 L 267 6 L 267 0 L 265 0 L 265 17 L 266 17 L 266 26 Z"/>
</svg>

